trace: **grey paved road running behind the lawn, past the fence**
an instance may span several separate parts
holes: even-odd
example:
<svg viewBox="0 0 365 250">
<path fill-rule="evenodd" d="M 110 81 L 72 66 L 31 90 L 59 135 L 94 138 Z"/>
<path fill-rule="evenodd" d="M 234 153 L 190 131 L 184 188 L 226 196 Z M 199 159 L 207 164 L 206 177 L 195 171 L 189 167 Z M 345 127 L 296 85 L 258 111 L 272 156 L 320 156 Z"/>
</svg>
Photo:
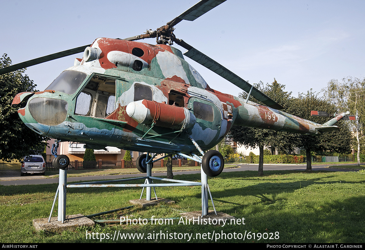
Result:
<svg viewBox="0 0 365 250">
<path fill-rule="evenodd" d="M 238 164 L 237 168 L 225 168 L 223 172 L 234 172 L 234 171 L 257 171 L 258 164 Z M 333 165 L 333 164 L 331 164 Z M 348 165 L 348 164 L 347 164 Z M 356 164 L 354 164 L 356 165 Z M 341 168 L 341 165 L 337 165 Z M 336 169 L 327 168 L 328 165 L 312 165 L 313 171 L 354 171 L 352 169 Z M 306 165 L 285 165 L 285 164 L 264 164 L 265 170 L 299 170 L 303 171 L 306 169 Z M 357 170 L 356 170 L 357 171 Z M 200 173 L 200 171 L 180 171 L 173 172 L 176 175 L 185 175 L 192 173 Z M 166 176 L 166 172 L 152 173 L 153 176 Z M 110 180 L 110 179 L 122 179 L 146 176 L 143 173 L 128 174 L 128 175 L 97 175 L 97 176 L 80 176 L 80 177 L 68 177 L 67 182 L 71 181 L 88 181 L 88 180 Z M 58 183 L 58 178 L 49 178 L 41 175 L 28 175 L 20 176 L 19 170 L 0 170 L 0 185 L 36 185 L 36 184 L 50 184 Z"/>
</svg>

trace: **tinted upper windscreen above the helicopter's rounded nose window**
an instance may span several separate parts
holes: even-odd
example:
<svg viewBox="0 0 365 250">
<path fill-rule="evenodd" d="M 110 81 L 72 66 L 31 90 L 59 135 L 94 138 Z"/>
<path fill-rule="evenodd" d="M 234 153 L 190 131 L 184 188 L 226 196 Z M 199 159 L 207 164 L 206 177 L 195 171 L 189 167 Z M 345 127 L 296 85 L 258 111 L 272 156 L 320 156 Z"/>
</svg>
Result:
<svg viewBox="0 0 365 250">
<path fill-rule="evenodd" d="M 66 70 L 54 79 L 46 90 L 56 90 L 66 94 L 74 94 L 86 77 L 87 75 L 85 73 Z"/>
</svg>

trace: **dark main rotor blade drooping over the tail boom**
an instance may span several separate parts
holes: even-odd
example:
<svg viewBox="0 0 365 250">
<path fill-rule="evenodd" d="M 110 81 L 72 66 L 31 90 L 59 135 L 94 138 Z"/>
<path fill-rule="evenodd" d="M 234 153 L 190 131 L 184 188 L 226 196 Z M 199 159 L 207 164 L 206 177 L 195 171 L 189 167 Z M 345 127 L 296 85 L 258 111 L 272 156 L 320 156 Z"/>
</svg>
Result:
<svg viewBox="0 0 365 250">
<path fill-rule="evenodd" d="M 204 67 L 210 69 L 214 73 L 220 75 L 224 79 L 230 81 L 240 89 L 250 92 L 252 85 L 245 80 L 243 80 L 238 75 L 234 74 L 232 71 L 228 70 L 223 65 L 220 65 L 218 62 L 213 60 L 212 58 L 204 55 L 199 50 L 196 50 L 191 45 L 185 43 L 183 40 L 174 40 L 175 43 L 179 44 L 181 47 L 186 48 L 188 51 L 183 53 L 185 56 L 193 59 L 195 62 L 200 63 Z M 260 90 L 255 87 L 252 88 L 251 95 L 256 98 L 258 101 L 265 103 L 265 105 L 269 106 L 273 109 L 283 109 L 283 106 L 275 102 L 273 99 L 262 93 Z"/>
</svg>

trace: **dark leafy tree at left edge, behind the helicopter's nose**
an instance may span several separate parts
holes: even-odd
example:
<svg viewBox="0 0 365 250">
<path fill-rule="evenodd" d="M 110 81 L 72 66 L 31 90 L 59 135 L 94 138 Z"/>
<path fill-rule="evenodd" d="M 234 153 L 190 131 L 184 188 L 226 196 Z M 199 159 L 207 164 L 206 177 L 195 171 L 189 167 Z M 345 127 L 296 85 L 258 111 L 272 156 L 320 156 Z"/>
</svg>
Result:
<svg viewBox="0 0 365 250">
<path fill-rule="evenodd" d="M 11 59 L 4 54 L 0 58 L 0 68 L 11 65 Z M 22 75 L 25 70 L 17 70 L 0 75 L 0 159 L 21 159 L 31 154 L 31 150 L 41 150 L 47 145 L 43 137 L 29 129 L 20 120 L 17 108 L 11 103 L 16 94 L 21 92 L 35 92 L 32 80 Z"/>
</svg>

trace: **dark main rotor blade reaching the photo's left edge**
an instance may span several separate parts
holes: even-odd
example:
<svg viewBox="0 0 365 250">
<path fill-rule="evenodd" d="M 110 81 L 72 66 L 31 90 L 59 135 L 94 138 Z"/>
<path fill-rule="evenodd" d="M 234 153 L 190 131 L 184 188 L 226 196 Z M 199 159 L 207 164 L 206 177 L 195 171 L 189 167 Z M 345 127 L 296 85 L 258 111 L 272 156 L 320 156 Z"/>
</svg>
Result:
<svg viewBox="0 0 365 250">
<path fill-rule="evenodd" d="M 37 65 L 39 63 L 44 63 L 44 62 L 48 62 L 54 59 L 58 59 L 58 58 L 62 58 L 65 56 L 69 56 L 69 55 L 73 55 L 73 54 L 77 54 L 80 52 L 84 52 L 85 48 L 88 47 L 90 45 L 85 45 L 85 46 L 81 46 L 81 47 L 77 47 L 77 48 L 72 48 L 70 50 L 65 50 L 65 51 L 61 51 L 61 52 L 57 52 L 51 55 L 46 55 L 46 56 L 42 56 L 36 59 L 32 59 L 26 62 L 22 62 L 22 63 L 17 63 L 5 68 L 0 69 L 0 75 L 2 74 L 6 74 L 15 70 L 20 70 L 20 69 L 24 69 L 26 67 L 30 67 L 33 65 Z"/>
</svg>

